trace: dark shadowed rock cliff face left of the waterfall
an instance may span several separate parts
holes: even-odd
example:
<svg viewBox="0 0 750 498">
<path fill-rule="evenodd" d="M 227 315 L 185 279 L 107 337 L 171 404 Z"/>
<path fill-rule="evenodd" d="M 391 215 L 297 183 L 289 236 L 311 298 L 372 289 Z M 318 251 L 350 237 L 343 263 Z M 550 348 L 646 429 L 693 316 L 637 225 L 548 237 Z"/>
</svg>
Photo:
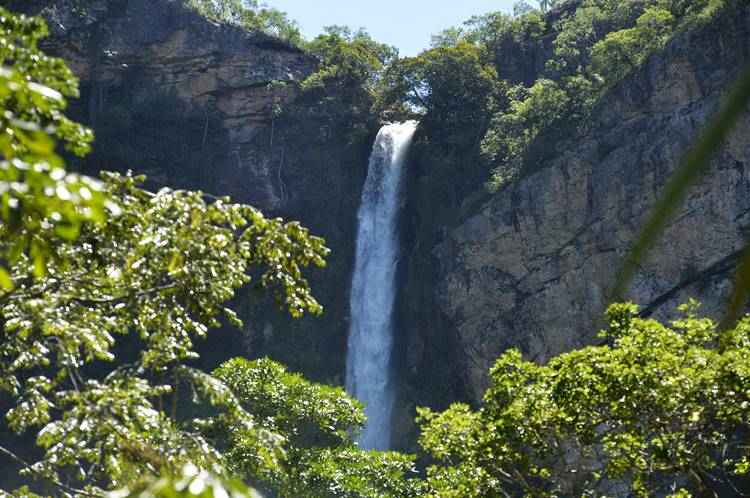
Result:
<svg viewBox="0 0 750 498">
<path fill-rule="evenodd" d="M 81 80 L 72 111 L 97 139 L 79 169 L 132 169 L 152 188 L 230 195 L 301 221 L 332 248 L 328 268 L 311 276 L 324 317 L 291 320 L 248 290 L 251 299 L 237 303 L 246 329 L 209 340 L 209 365 L 271 354 L 316 380 L 341 380 L 356 209 L 376 123 L 351 123 L 300 97 L 314 57 L 209 21 L 183 0 L 11 3 L 47 18 L 45 49 Z"/>
</svg>

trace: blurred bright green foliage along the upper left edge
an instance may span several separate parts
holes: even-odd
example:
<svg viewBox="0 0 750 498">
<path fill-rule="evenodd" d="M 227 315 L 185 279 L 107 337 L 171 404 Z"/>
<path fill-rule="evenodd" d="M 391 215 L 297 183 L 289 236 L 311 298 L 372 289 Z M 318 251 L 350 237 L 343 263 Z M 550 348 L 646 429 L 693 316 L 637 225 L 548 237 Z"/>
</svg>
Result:
<svg viewBox="0 0 750 498">
<path fill-rule="evenodd" d="M 39 19 L 0 8 L 0 288 L 12 289 L 8 265 L 30 257 L 42 276 L 59 241 L 84 222 L 102 222 L 107 203 L 99 182 L 65 172 L 56 141 L 74 154 L 89 150 L 92 133 L 63 114 L 77 80 L 38 48 L 47 34 Z"/>
</svg>

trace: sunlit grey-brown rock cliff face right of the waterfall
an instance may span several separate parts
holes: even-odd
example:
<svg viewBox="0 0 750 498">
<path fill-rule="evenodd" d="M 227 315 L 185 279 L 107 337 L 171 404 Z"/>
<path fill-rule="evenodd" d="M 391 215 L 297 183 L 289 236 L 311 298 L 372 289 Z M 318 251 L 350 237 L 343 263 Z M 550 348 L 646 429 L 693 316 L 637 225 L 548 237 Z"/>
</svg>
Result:
<svg viewBox="0 0 750 498">
<path fill-rule="evenodd" d="M 609 92 L 587 131 L 537 157 L 533 174 L 478 205 L 467 200 L 456 222 L 431 228 L 432 246 L 417 238 L 409 265 L 431 286 L 421 302 L 437 309 L 405 311 L 407 368 L 428 368 L 431 344 L 447 341 L 476 400 L 508 348 L 544 361 L 591 343 L 629 244 L 748 61 L 747 6 L 683 33 Z M 745 116 L 641 266 L 628 297 L 646 314 L 672 315 L 690 296 L 719 313 L 750 228 L 748 137 Z M 410 195 L 430 197 L 413 185 Z M 431 208 L 414 209 L 429 219 Z"/>
</svg>

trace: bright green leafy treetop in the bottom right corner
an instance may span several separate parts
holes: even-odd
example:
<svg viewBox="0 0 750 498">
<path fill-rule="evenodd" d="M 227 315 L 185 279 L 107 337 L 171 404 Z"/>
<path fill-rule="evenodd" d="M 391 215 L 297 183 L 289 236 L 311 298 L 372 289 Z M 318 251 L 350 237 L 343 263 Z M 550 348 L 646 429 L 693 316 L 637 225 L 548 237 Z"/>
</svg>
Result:
<svg viewBox="0 0 750 498">
<path fill-rule="evenodd" d="M 547 365 L 505 353 L 479 411 L 421 411 L 430 496 L 705 496 L 750 470 L 750 318 L 608 310 L 605 345 Z M 746 484 L 745 484 L 746 485 Z"/>
</svg>

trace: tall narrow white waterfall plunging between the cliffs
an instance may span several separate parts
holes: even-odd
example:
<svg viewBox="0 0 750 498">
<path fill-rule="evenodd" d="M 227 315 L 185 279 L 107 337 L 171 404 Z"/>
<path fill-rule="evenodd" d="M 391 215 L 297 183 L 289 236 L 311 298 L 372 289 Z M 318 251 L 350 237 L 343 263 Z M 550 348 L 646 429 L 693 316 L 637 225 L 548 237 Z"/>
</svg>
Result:
<svg viewBox="0 0 750 498">
<path fill-rule="evenodd" d="M 365 449 L 387 450 L 390 446 L 398 211 L 403 170 L 416 128 L 415 121 L 381 128 L 370 155 L 358 214 L 346 389 L 365 405 L 367 424 L 358 440 Z"/>
</svg>

